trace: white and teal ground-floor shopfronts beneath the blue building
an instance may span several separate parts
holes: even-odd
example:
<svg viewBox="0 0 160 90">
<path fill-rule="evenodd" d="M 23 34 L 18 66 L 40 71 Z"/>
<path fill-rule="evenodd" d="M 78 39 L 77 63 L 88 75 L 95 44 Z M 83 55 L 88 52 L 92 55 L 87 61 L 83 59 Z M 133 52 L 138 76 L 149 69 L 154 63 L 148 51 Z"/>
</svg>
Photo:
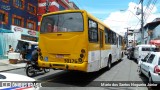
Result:
<svg viewBox="0 0 160 90">
<path fill-rule="evenodd" d="M 9 45 L 11 45 L 14 51 L 20 48 L 18 45 L 24 43 L 37 43 L 38 42 L 38 32 L 30 30 L 27 28 L 22 28 L 18 26 L 11 26 L 11 30 L 0 29 L 0 56 L 7 56 L 7 51 L 9 50 Z M 38 44 L 38 43 L 37 43 Z M 30 44 L 28 47 L 30 49 Z"/>
</svg>

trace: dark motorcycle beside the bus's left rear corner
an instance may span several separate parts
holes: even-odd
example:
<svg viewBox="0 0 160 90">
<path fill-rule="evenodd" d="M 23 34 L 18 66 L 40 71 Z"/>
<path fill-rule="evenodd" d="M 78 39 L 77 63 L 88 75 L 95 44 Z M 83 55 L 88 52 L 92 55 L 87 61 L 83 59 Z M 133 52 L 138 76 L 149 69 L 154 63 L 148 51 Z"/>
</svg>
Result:
<svg viewBox="0 0 160 90">
<path fill-rule="evenodd" d="M 25 69 L 26 69 L 26 75 L 29 77 L 37 75 L 38 72 L 43 71 L 44 73 L 48 73 L 50 71 L 49 68 L 38 67 L 35 61 L 27 61 Z"/>
</svg>

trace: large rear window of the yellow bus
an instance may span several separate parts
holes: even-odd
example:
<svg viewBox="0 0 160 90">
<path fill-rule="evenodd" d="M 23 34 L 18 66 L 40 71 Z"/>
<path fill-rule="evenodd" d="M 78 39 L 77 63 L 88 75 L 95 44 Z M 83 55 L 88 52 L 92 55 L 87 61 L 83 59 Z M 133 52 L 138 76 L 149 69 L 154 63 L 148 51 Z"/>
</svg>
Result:
<svg viewBox="0 0 160 90">
<path fill-rule="evenodd" d="M 81 13 L 63 13 L 44 16 L 41 33 L 82 32 L 84 28 Z"/>
</svg>

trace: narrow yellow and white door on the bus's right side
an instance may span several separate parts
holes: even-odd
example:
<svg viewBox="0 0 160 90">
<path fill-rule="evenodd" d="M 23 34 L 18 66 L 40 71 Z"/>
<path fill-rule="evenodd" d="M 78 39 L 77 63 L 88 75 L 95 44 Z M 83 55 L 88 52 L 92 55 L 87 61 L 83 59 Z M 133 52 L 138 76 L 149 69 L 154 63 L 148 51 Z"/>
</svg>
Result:
<svg viewBox="0 0 160 90">
<path fill-rule="evenodd" d="M 100 30 L 100 68 L 104 66 L 103 47 L 104 47 L 104 31 Z"/>
</svg>

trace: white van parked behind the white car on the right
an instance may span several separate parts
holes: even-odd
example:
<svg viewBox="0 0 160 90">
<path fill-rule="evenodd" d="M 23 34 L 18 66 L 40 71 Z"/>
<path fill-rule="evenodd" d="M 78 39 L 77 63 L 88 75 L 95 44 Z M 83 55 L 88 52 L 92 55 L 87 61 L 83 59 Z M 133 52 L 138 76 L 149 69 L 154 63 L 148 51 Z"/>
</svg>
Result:
<svg viewBox="0 0 160 90">
<path fill-rule="evenodd" d="M 156 49 L 155 45 L 137 45 L 134 49 L 134 59 L 137 60 L 137 63 L 139 64 L 141 59 L 144 59 L 144 57 L 150 53 L 154 52 Z"/>
</svg>

